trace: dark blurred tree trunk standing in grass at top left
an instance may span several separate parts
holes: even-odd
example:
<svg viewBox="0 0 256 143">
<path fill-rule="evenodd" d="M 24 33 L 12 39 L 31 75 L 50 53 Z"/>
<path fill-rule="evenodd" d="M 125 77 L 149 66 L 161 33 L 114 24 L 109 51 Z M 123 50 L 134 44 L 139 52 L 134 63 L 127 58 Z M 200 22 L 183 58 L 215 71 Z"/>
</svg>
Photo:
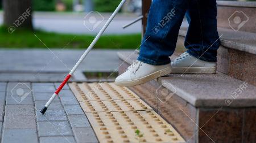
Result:
<svg viewBox="0 0 256 143">
<path fill-rule="evenodd" d="M 32 29 L 31 0 L 3 0 L 3 10 L 7 27 Z"/>
</svg>

